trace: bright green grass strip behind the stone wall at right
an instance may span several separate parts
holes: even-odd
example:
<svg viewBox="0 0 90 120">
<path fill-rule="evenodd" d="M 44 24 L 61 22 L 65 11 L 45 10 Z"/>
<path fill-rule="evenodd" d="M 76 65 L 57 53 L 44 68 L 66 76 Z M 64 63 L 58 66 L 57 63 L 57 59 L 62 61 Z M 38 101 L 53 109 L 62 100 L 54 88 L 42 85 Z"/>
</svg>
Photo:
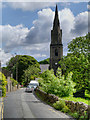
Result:
<svg viewBox="0 0 90 120">
<path fill-rule="evenodd" d="M 90 99 L 87 100 L 87 99 L 84 99 L 84 98 L 80 98 L 80 97 L 63 97 L 62 99 L 64 100 L 69 100 L 69 101 L 74 101 L 74 102 L 83 102 L 87 105 L 90 105 Z"/>
</svg>

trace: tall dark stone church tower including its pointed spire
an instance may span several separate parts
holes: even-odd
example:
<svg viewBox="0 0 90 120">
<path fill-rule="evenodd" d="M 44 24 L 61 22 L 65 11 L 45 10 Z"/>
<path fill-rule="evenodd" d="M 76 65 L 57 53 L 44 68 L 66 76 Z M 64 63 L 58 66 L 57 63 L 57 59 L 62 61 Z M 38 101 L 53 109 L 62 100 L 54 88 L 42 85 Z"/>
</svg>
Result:
<svg viewBox="0 0 90 120">
<path fill-rule="evenodd" d="M 58 8 L 56 5 L 53 29 L 51 30 L 51 44 L 50 44 L 50 69 L 53 69 L 55 74 L 57 68 L 59 67 L 58 62 L 60 61 L 62 56 L 63 56 L 62 30 L 60 29 Z"/>
</svg>

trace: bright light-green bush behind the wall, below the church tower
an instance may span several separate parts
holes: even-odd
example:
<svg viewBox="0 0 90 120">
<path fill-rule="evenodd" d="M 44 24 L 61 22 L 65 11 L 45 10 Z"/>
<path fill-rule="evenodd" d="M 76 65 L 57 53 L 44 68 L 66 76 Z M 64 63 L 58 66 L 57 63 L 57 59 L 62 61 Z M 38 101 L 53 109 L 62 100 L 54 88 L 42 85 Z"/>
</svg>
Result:
<svg viewBox="0 0 90 120">
<path fill-rule="evenodd" d="M 61 76 L 61 70 L 58 69 L 57 77 L 54 75 L 53 70 L 47 70 L 42 73 L 41 78 L 38 80 L 41 89 L 46 93 L 55 94 L 60 97 L 71 96 L 74 89 L 74 83 L 71 81 L 72 73 L 69 73 L 65 79 L 64 75 Z"/>
</svg>

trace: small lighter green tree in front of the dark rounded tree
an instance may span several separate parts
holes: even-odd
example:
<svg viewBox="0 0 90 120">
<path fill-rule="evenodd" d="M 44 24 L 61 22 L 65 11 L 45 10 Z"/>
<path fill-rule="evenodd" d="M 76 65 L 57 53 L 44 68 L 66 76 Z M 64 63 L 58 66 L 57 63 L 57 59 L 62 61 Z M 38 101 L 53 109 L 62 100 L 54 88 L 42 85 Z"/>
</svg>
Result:
<svg viewBox="0 0 90 120">
<path fill-rule="evenodd" d="M 24 70 L 24 74 L 22 76 L 23 84 L 27 85 L 30 80 L 34 80 L 35 77 L 38 77 L 39 72 L 40 68 L 38 68 L 37 66 L 29 66 L 26 70 Z"/>
</svg>

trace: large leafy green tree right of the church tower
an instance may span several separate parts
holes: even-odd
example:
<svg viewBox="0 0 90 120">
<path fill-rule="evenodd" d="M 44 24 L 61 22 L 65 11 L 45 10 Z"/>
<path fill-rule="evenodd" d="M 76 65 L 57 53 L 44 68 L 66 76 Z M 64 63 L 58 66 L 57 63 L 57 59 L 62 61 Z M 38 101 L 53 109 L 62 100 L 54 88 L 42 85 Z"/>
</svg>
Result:
<svg viewBox="0 0 90 120">
<path fill-rule="evenodd" d="M 73 39 L 68 45 L 71 53 L 68 53 L 59 62 L 65 76 L 70 71 L 73 72 L 72 80 L 76 83 L 76 90 L 80 91 L 80 94 L 84 94 L 85 90 L 90 91 L 88 42 L 89 34 Z"/>
</svg>

